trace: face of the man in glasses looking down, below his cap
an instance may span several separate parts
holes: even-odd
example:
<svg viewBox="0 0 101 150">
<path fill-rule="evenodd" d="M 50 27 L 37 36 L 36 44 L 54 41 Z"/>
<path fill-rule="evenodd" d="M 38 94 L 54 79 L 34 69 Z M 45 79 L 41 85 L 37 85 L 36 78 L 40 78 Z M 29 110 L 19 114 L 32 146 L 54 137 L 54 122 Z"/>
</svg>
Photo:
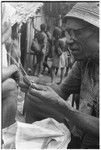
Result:
<svg viewBox="0 0 101 150">
<path fill-rule="evenodd" d="M 98 29 L 89 26 L 78 19 L 68 19 L 66 28 L 70 34 L 72 43 L 69 49 L 75 60 L 99 58 L 99 33 Z"/>
</svg>

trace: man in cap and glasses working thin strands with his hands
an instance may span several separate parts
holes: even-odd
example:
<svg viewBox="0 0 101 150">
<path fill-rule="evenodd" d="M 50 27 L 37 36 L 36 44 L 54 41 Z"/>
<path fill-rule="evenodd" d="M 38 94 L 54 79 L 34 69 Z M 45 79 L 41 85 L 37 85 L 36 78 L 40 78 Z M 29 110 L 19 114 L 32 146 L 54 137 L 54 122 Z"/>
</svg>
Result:
<svg viewBox="0 0 101 150">
<path fill-rule="evenodd" d="M 66 28 L 73 40 L 69 48 L 76 62 L 59 87 L 32 84 L 28 90 L 26 108 L 26 115 L 30 116 L 28 122 L 33 122 L 34 113 L 41 115 L 42 119 L 53 117 L 64 123 L 68 119 L 76 126 L 73 135 L 78 134 L 82 140 L 80 148 L 88 149 L 99 148 L 98 7 L 97 2 L 77 3 L 67 14 Z M 28 87 L 28 84 L 23 87 Z M 23 91 L 26 89 L 23 88 Z M 79 92 L 79 110 L 75 110 L 64 100 L 71 93 Z M 38 119 L 41 118 L 38 116 Z"/>
</svg>

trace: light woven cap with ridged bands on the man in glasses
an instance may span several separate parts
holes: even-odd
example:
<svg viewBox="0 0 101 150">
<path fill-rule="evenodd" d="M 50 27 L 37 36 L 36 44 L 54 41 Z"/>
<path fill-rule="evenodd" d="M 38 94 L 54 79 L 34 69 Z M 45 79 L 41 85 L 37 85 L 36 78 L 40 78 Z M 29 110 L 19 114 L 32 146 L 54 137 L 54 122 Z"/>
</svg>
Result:
<svg viewBox="0 0 101 150">
<path fill-rule="evenodd" d="M 96 27 L 99 27 L 99 3 L 80 2 L 74 5 L 71 11 L 64 17 L 63 22 L 68 18 L 78 18 Z"/>
</svg>

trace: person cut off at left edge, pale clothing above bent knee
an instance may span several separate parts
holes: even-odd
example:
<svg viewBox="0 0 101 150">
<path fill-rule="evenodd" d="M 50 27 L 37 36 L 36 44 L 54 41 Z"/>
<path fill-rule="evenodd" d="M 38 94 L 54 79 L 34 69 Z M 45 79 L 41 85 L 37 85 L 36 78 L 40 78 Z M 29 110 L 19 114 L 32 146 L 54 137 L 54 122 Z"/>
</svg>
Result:
<svg viewBox="0 0 101 150">
<path fill-rule="evenodd" d="M 4 6 L 4 5 L 3 5 Z M 3 7 L 5 8 L 5 7 Z M 7 9 L 6 9 L 7 10 Z M 6 42 L 11 36 L 11 25 L 4 20 L 7 12 L 3 9 L 2 12 L 2 128 L 6 128 L 15 122 L 17 110 L 17 83 L 12 78 L 12 75 L 18 72 L 18 67 L 14 64 L 8 66 Z"/>
</svg>

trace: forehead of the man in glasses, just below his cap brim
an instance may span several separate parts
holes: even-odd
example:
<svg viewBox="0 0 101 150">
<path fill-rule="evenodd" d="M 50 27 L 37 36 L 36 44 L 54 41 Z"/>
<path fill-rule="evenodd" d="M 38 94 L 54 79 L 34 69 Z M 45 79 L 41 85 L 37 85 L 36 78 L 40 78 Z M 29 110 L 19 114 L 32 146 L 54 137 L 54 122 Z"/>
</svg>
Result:
<svg viewBox="0 0 101 150">
<path fill-rule="evenodd" d="M 69 29 L 80 29 L 85 26 L 85 22 L 76 18 L 68 18 L 66 23 L 64 24 L 64 28 L 69 28 Z"/>
</svg>

